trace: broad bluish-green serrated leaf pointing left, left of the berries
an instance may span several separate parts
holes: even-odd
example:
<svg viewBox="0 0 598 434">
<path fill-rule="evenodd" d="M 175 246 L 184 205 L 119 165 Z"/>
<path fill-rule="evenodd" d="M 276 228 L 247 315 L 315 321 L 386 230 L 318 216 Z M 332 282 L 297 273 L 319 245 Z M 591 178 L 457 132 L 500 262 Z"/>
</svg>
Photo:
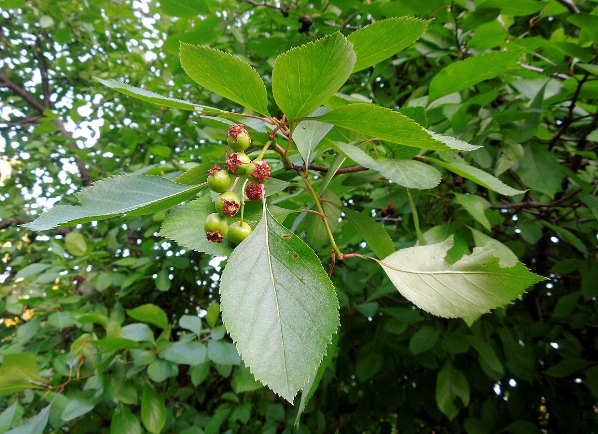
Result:
<svg viewBox="0 0 598 434">
<path fill-rule="evenodd" d="M 116 175 L 75 193 L 81 206 L 54 206 L 23 226 L 45 231 L 123 214 L 152 214 L 193 197 L 204 185 L 177 184 L 160 176 Z"/>
</svg>

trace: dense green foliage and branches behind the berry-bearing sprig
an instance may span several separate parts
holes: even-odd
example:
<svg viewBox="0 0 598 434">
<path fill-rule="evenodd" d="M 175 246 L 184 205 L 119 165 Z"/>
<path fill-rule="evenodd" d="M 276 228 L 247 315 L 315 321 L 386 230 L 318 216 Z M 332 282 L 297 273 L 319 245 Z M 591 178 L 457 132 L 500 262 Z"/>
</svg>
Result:
<svg viewBox="0 0 598 434">
<path fill-rule="evenodd" d="M 44 234 L 18 225 L 57 200 L 75 203 L 70 194 L 96 179 L 173 179 L 221 160 L 220 123 L 128 98 L 92 77 L 123 77 L 232 109 L 187 77 L 179 42 L 236 54 L 272 94 L 283 51 L 416 16 L 434 19 L 422 38 L 352 74 L 341 92 L 413 116 L 425 107 L 419 121 L 429 129 L 482 145 L 463 154 L 467 163 L 529 190 L 504 197 L 443 169 L 438 187 L 411 190 L 423 237 L 437 243 L 452 235 L 453 262 L 492 237 L 550 280 L 466 323 L 414 308 L 373 262 L 337 264 L 338 348 L 298 430 L 589 432 L 598 396 L 596 7 L 589 0 L 5 0 L 0 146 L 12 176 L 0 191 L 0 431 L 21 432 L 25 423 L 24 432 L 292 432 L 297 406 L 255 382 L 225 334 L 217 295 L 224 264 L 159 237 L 165 212 Z M 437 90 L 475 73 L 457 60 L 505 47 L 520 51 L 520 68 L 498 77 L 488 71 L 490 80 L 459 93 Z M 350 139 L 344 135 L 334 128 L 329 137 Z M 331 160 L 318 154 L 313 163 Z M 416 242 L 404 188 L 366 171 L 335 177 L 329 190 L 349 210 L 374 216 L 396 249 Z M 309 201 L 280 195 L 276 204 Z M 389 204 L 396 213 L 383 216 Z M 301 231 L 327 265 L 325 240 L 310 225 Z M 363 251 L 347 219 L 335 234 L 343 251 Z"/>
</svg>

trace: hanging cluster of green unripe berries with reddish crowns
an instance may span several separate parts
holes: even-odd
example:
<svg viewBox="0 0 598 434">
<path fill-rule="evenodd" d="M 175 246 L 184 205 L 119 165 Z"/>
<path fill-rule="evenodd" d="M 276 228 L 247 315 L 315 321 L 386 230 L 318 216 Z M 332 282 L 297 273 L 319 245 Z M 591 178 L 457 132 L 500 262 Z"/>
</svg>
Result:
<svg viewBox="0 0 598 434">
<path fill-rule="evenodd" d="M 266 161 L 251 161 L 245 154 L 245 149 L 251 144 L 251 137 L 245 127 L 239 124 L 233 125 L 228 130 L 228 146 L 233 154 L 226 154 L 224 169 L 214 166 L 208 170 L 208 187 L 210 190 L 220 193 L 216 199 L 216 212 L 211 213 L 204 224 L 206 239 L 212 243 L 221 243 L 224 236 L 227 236 L 231 246 L 237 246 L 251 234 L 251 227 L 243 222 L 234 221 L 228 224 L 228 218 L 234 218 L 237 212 L 242 211 L 242 200 L 258 200 L 263 194 L 263 183 L 270 179 L 270 166 Z M 236 181 L 233 182 L 233 176 Z M 248 178 L 243 198 L 239 198 L 233 189 L 241 176 Z"/>
</svg>

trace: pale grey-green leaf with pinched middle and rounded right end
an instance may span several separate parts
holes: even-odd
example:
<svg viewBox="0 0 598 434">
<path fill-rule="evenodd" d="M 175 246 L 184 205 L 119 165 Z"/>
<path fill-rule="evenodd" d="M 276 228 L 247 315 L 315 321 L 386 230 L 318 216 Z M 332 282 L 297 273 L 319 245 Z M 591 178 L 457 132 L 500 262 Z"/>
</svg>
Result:
<svg viewBox="0 0 598 434">
<path fill-rule="evenodd" d="M 334 146 L 355 163 L 376 170 L 386 179 L 403 187 L 428 189 L 440 183 L 440 172 L 429 164 L 414 160 L 391 160 L 386 157 L 374 160 L 366 152 L 350 143 L 335 142 Z"/>
</svg>

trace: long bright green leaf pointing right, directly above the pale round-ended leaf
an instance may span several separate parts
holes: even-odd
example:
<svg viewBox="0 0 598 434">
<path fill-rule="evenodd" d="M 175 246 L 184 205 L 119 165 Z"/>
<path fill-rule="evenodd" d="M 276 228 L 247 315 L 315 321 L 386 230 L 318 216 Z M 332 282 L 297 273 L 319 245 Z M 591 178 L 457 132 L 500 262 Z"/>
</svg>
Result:
<svg viewBox="0 0 598 434">
<path fill-rule="evenodd" d="M 399 145 L 434 151 L 453 151 L 450 146 L 434 139 L 411 118 L 370 103 L 344 105 L 315 119 Z"/>
</svg>

